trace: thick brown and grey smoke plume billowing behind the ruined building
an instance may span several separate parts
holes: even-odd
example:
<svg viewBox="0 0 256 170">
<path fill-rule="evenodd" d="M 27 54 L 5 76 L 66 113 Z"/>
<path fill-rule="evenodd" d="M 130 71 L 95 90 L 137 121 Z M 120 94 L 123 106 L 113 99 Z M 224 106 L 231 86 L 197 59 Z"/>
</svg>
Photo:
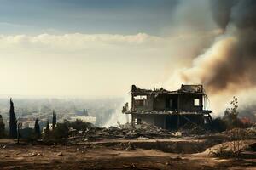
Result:
<svg viewBox="0 0 256 170">
<path fill-rule="evenodd" d="M 198 50 L 200 54 L 189 58 L 189 61 L 192 59 L 190 65 L 183 63 L 183 67 L 172 72 L 165 87 L 177 89 L 181 83 L 201 83 L 210 99 L 212 116 L 223 115 L 234 95 L 238 97 L 241 115 L 255 116 L 256 1 L 212 0 L 192 3 L 195 2 L 200 3 L 193 6 L 183 1 L 181 9 L 177 8 L 178 13 L 193 11 L 186 15 L 187 20 L 190 15 L 198 16 L 196 22 L 190 21 L 185 28 L 192 27 L 190 32 L 197 33 L 214 30 L 218 34 L 211 37 L 206 46 L 201 46 Z M 197 14 L 199 11 L 202 11 L 201 14 Z M 180 49 L 189 53 L 188 48 Z"/>
</svg>

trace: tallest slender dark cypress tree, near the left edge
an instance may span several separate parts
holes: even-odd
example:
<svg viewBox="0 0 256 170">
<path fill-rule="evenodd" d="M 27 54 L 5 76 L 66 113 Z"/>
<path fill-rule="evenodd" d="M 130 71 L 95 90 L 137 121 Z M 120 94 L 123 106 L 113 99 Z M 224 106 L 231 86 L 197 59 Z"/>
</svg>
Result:
<svg viewBox="0 0 256 170">
<path fill-rule="evenodd" d="M 9 109 L 9 137 L 12 139 L 17 138 L 17 119 L 15 115 L 14 102 L 10 99 L 10 109 Z"/>
</svg>

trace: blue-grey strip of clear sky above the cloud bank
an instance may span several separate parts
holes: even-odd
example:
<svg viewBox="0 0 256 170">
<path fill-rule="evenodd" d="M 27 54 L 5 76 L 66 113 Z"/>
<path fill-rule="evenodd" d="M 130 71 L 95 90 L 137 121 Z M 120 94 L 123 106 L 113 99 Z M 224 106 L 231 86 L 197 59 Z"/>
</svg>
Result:
<svg viewBox="0 0 256 170">
<path fill-rule="evenodd" d="M 159 35 L 176 6 L 174 0 L 1 0 L 0 26 L 7 34 Z"/>
</svg>

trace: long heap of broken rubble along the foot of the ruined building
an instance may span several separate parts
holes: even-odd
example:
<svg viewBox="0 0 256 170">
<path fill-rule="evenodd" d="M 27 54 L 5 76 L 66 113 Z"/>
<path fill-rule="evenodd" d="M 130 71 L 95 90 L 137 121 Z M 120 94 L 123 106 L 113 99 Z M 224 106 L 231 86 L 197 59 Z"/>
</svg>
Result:
<svg viewBox="0 0 256 170">
<path fill-rule="evenodd" d="M 120 124 L 119 127 L 89 127 L 84 129 L 83 133 L 76 133 L 73 137 L 74 140 L 69 140 L 70 144 L 102 141 L 106 139 L 171 139 L 171 138 L 183 138 L 183 137 L 195 137 L 212 138 L 216 140 L 228 141 L 230 134 L 234 129 L 230 131 L 224 131 L 223 133 L 211 133 L 204 127 L 196 124 L 185 124 L 176 131 L 169 131 L 167 129 L 156 127 L 146 122 L 141 124 L 132 125 L 132 123 Z M 243 128 L 240 130 L 241 136 L 247 137 L 247 139 L 256 139 L 256 127 Z"/>
</svg>

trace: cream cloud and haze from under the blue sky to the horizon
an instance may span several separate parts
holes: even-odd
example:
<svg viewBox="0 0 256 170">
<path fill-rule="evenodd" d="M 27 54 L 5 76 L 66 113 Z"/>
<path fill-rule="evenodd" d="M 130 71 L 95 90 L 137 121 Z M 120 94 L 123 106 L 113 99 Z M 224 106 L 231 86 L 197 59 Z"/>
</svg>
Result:
<svg viewBox="0 0 256 170">
<path fill-rule="evenodd" d="M 0 36 L 0 94 L 123 95 L 162 86 L 214 33 Z"/>
</svg>

